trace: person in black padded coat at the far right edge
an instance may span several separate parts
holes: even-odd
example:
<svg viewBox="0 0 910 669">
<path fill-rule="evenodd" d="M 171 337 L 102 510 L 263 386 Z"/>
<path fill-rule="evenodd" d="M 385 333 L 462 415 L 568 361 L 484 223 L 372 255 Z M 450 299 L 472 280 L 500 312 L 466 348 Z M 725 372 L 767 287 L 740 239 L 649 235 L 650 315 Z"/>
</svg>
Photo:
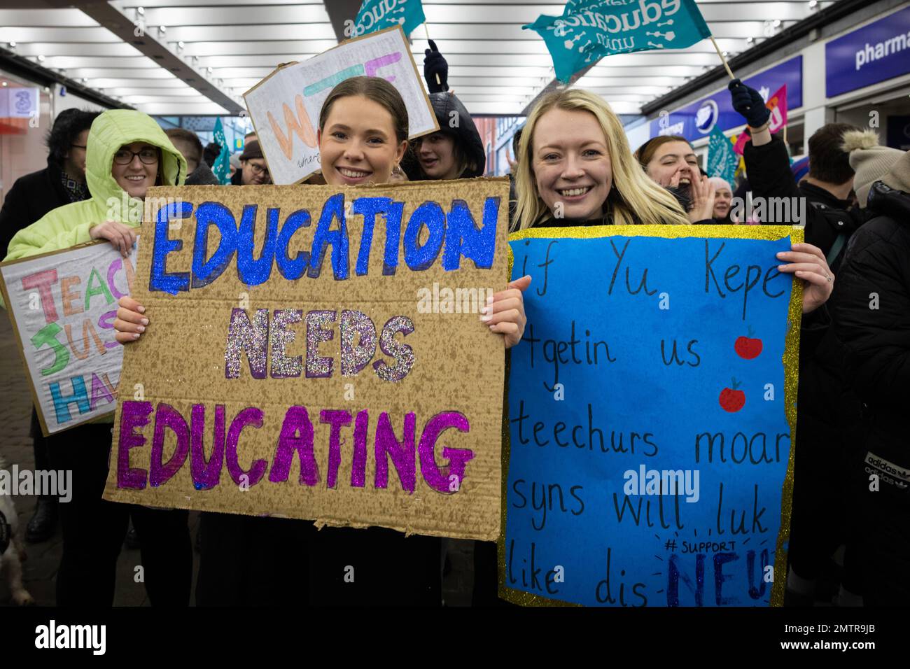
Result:
<svg viewBox="0 0 910 669">
<path fill-rule="evenodd" d="M 858 194 L 857 194 L 858 195 Z M 864 603 L 910 602 L 910 155 L 860 198 L 870 219 L 838 274 L 834 334 L 863 402 L 850 471 L 861 490 Z"/>
</svg>

